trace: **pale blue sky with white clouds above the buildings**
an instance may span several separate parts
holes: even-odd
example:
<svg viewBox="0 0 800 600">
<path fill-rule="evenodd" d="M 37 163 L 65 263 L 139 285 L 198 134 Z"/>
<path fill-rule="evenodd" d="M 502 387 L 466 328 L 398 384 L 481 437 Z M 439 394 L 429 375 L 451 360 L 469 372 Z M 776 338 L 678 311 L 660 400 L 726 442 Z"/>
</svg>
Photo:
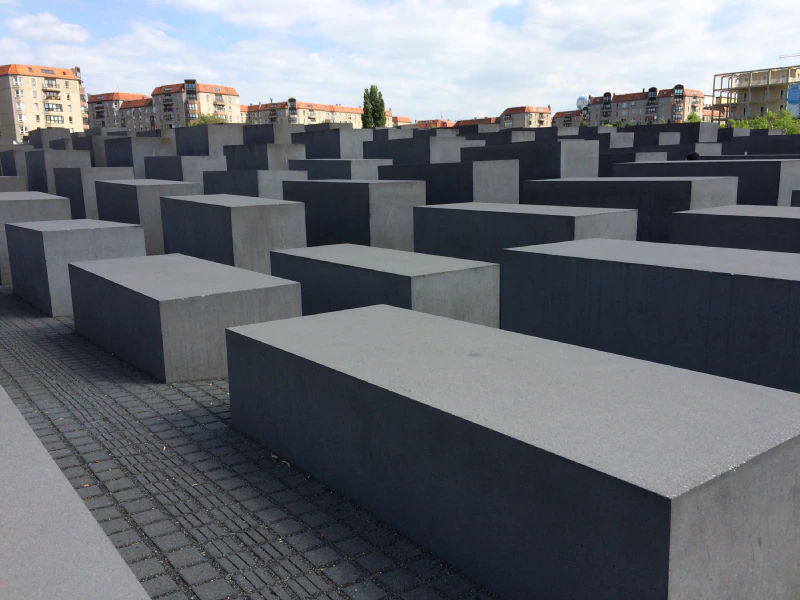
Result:
<svg viewBox="0 0 800 600">
<path fill-rule="evenodd" d="M 0 0 L 0 61 L 78 65 L 87 91 L 150 94 L 197 79 L 240 102 L 393 114 L 572 110 L 583 94 L 711 93 L 713 75 L 800 64 L 800 5 L 773 0 Z"/>
</svg>

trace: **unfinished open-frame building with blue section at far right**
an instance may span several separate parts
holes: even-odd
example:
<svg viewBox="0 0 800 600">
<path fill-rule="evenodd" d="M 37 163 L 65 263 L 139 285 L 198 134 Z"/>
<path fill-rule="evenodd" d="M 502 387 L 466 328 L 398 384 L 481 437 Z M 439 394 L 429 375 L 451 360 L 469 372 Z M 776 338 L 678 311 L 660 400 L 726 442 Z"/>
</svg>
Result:
<svg viewBox="0 0 800 600">
<path fill-rule="evenodd" d="M 751 119 L 788 108 L 789 85 L 800 82 L 800 65 L 714 75 L 712 105 L 717 122 Z"/>
</svg>

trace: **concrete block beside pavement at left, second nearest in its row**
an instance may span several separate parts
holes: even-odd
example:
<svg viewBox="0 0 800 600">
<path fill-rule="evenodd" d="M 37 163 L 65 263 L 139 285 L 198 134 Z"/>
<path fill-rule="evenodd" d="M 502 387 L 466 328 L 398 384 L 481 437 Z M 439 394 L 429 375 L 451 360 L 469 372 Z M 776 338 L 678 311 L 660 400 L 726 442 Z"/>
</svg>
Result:
<svg viewBox="0 0 800 600">
<path fill-rule="evenodd" d="M 72 316 L 67 263 L 144 256 L 140 225 L 70 219 L 6 225 L 14 293 L 51 317 Z"/>
</svg>

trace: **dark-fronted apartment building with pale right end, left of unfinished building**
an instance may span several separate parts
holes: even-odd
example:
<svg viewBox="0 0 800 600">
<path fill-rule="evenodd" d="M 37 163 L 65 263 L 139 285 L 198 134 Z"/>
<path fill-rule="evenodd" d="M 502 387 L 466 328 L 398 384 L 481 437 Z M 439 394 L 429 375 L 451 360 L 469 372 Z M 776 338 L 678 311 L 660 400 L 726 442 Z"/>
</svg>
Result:
<svg viewBox="0 0 800 600">
<path fill-rule="evenodd" d="M 702 115 L 705 94 L 682 85 L 659 90 L 627 94 L 606 92 L 602 96 L 589 96 L 583 108 L 583 121 L 590 126 L 623 124 L 683 123 L 692 113 Z"/>
</svg>

